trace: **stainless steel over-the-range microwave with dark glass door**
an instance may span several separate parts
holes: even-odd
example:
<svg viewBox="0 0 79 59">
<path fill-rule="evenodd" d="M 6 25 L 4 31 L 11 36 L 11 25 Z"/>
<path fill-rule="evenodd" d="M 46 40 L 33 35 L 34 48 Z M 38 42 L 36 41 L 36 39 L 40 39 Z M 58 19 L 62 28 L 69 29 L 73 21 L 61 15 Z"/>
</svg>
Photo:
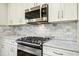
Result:
<svg viewBox="0 0 79 59">
<path fill-rule="evenodd" d="M 25 10 L 25 19 L 28 24 L 48 22 L 48 4 L 32 7 Z"/>
</svg>

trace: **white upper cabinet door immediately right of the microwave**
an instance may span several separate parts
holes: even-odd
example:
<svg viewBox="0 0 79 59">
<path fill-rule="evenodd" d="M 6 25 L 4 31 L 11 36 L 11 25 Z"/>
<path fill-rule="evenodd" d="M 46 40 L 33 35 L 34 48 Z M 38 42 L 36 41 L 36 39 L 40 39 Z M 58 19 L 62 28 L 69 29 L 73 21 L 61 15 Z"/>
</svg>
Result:
<svg viewBox="0 0 79 59">
<path fill-rule="evenodd" d="M 49 3 L 48 9 L 49 22 L 60 21 L 60 3 Z"/>
</svg>

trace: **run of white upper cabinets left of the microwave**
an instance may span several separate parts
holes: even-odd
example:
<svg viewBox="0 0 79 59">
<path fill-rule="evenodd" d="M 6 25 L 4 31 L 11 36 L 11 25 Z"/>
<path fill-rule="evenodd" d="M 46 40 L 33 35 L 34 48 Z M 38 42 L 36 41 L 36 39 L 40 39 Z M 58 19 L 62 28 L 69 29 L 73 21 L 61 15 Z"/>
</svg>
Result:
<svg viewBox="0 0 79 59">
<path fill-rule="evenodd" d="M 28 3 L 0 3 L 0 25 L 26 24 L 25 9 Z"/>
</svg>

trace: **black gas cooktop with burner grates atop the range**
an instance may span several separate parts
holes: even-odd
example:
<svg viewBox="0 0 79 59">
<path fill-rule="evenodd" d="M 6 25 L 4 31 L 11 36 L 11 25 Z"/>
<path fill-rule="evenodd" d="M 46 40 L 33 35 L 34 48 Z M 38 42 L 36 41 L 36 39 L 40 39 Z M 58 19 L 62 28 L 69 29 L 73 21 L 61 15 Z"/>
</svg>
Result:
<svg viewBox="0 0 79 59">
<path fill-rule="evenodd" d="M 23 41 L 23 42 L 41 45 L 47 42 L 48 40 L 50 40 L 50 38 L 28 36 L 28 37 L 22 37 L 18 39 L 17 41 Z"/>
</svg>

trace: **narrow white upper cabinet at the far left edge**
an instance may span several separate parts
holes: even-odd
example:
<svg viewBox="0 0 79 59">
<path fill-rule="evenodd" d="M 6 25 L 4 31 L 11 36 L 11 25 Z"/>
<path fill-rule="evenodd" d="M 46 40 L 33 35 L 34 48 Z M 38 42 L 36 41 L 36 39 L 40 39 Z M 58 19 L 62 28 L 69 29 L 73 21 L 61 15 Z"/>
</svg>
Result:
<svg viewBox="0 0 79 59">
<path fill-rule="evenodd" d="M 7 20 L 7 3 L 0 3 L 0 25 L 6 25 Z"/>
</svg>

